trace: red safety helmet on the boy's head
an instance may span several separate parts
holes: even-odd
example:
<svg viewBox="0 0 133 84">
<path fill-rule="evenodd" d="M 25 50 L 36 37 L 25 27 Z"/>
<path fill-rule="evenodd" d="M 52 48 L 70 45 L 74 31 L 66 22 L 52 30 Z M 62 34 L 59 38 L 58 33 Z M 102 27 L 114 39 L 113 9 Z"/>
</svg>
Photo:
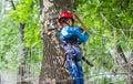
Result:
<svg viewBox="0 0 133 84">
<path fill-rule="evenodd" d="M 68 11 L 62 11 L 59 14 L 59 19 L 58 19 L 59 23 L 62 23 L 62 21 L 61 21 L 62 18 L 70 18 L 70 19 L 72 19 L 74 21 L 72 13 L 70 13 Z"/>
</svg>

